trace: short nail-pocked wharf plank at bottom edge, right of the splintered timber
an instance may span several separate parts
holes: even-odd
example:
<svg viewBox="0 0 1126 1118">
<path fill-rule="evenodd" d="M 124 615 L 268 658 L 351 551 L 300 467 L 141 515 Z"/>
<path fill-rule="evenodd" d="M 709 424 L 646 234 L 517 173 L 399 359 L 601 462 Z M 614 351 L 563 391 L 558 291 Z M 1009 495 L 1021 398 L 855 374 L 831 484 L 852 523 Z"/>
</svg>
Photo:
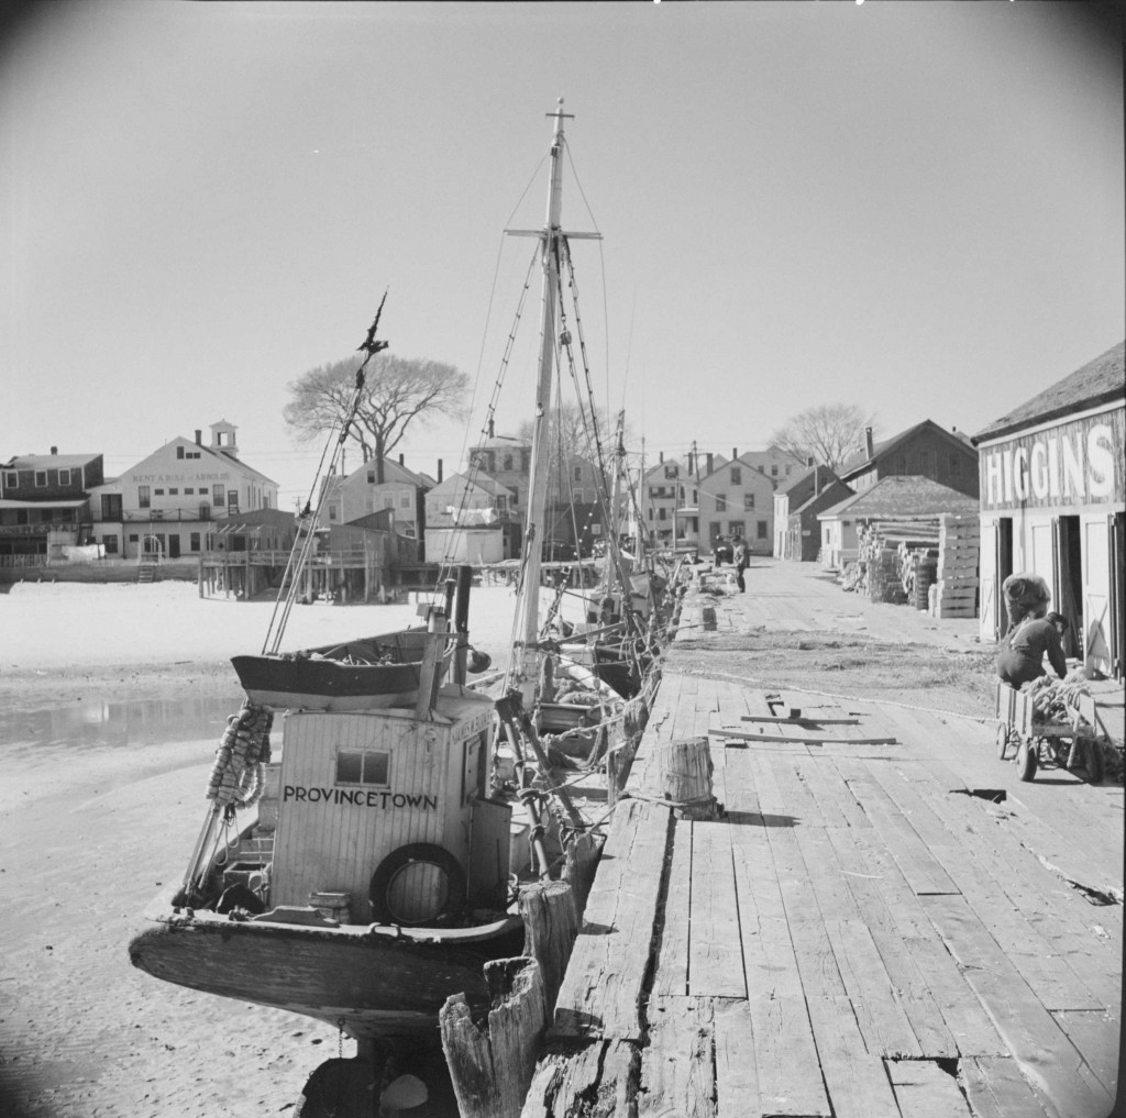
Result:
<svg viewBox="0 0 1126 1118">
<path fill-rule="evenodd" d="M 713 1002 L 654 998 L 642 1052 L 637 1118 L 716 1118 Z"/>
</svg>

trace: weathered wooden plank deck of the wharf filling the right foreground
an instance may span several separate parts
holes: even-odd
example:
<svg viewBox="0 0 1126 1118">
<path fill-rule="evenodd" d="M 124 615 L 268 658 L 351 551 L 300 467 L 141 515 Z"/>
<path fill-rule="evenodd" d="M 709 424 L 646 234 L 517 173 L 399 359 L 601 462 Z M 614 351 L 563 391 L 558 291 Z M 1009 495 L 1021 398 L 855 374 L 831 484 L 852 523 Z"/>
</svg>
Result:
<svg viewBox="0 0 1126 1118">
<path fill-rule="evenodd" d="M 660 743 L 772 708 L 665 672 L 524 1113 L 1109 1113 L 1123 929 L 1120 904 L 1092 903 L 1112 877 L 1106 858 L 1084 867 L 1096 824 L 1065 834 L 968 795 L 958 750 L 972 737 L 1000 766 L 989 725 L 780 699 L 857 723 L 823 745 L 786 723 L 761 724 L 783 741 L 714 733 L 726 814 L 678 821 L 659 802 Z"/>
</svg>

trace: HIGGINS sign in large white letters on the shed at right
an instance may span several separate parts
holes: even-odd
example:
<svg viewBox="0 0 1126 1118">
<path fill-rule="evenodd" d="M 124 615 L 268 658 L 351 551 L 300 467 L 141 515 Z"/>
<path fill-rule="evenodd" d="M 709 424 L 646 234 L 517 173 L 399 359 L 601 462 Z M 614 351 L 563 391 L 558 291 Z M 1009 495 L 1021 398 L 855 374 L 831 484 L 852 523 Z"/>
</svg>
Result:
<svg viewBox="0 0 1126 1118">
<path fill-rule="evenodd" d="M 1123 500 L 1124 411 L 982 447 L 982 511 Z"/>
</svg>

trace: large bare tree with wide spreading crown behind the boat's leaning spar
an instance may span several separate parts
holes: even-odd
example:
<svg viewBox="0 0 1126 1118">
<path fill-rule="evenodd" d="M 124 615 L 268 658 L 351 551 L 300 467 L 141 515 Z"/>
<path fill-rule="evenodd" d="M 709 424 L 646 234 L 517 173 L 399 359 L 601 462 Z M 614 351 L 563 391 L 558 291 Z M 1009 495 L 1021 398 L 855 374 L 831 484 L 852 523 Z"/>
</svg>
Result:
<svg viewBox="0 0 1126 1118">
<path fill-rule="evenodd" d="M 283 414 L 298 439 L 309 441 L 340 422 L 351 401 L 360 361 L 355 356 L 321 365 L 288 385 L 292 400 Z M 383 460 L 410 423 L 426 423 L 434 415 L 463 419 L 468 386 L 468 376 L 440 361 L 388 354 L 376 354 L 368 361 L 363 399 L 348 437 L 359 444 L 364 462 L 375 459 L 381 483 Z"/>
</svg>

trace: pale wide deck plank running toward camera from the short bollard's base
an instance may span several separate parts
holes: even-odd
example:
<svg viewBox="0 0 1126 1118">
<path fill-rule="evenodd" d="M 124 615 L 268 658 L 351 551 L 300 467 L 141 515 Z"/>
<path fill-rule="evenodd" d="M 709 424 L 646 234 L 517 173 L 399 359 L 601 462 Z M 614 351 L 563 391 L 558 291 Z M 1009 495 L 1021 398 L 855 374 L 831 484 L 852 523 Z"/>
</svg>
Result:
<svg viewBox="0 0 1126 1118">
<path fill-rule="evenodd" d="M 682 898 L 676 897 L 677 902 L 682 903 Z M 745 998 L 731 826 L 726 822 L 692 823 L 689 927 L 688 992 Z"/>
</svg>

